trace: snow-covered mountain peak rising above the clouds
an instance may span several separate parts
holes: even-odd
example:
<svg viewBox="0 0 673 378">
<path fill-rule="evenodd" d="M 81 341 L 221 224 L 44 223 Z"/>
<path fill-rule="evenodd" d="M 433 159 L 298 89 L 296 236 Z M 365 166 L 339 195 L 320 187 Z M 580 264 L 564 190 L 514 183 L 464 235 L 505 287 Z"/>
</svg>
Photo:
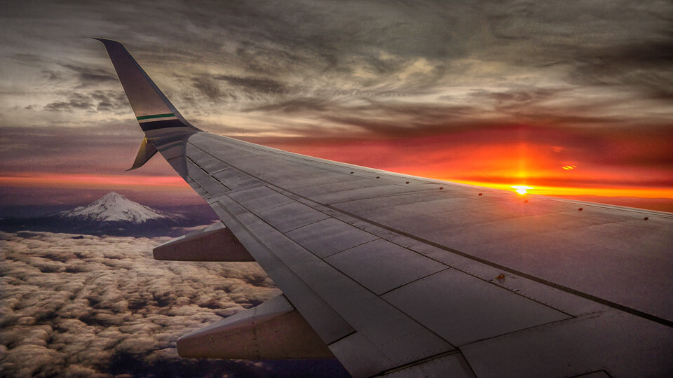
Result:
<svg viewBox="0 0 673 378">
<path fill-rule="evenodd" d="M 57 216 L 86 221 L 130 222 L 135 224 L 160 220 L 177 221 L 184 218 L 184 216 L 178 214 L 155 210 L 133 202 L 115 192 L 110 192 L 87 206 L 61 211 Z"/>
</svg>

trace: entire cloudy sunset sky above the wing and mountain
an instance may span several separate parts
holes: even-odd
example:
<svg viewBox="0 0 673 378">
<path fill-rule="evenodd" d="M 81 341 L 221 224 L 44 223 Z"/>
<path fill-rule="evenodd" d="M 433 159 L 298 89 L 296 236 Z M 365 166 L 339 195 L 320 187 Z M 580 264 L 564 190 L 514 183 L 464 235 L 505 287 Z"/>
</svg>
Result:
<svg viewBox="0 0 673 378">
<path fill-rule="evenodd" d="M 159 157 L 124 172 L 142 132 L 102 37 L 203 130 L 673 211 L 672 14 L 670 1 L 9 1 L 0 206 L 109 190 L 200 203 Z"/>
</svg>

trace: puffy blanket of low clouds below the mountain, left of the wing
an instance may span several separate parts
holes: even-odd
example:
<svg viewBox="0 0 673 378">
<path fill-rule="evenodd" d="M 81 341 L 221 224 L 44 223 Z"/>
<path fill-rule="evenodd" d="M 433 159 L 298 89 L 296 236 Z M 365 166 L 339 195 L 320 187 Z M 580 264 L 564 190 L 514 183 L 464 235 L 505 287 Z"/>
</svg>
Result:
<svg viewBox="0 0 673 378">
<path fill-rule="evenodd" d="M 259 265 L 159 262 L 168 238 L 1 233 L 4 376 L 266 377 L 341 374 L 333 361 L 179 358 L 177 337 L 280 293 Z"/>
</svg>

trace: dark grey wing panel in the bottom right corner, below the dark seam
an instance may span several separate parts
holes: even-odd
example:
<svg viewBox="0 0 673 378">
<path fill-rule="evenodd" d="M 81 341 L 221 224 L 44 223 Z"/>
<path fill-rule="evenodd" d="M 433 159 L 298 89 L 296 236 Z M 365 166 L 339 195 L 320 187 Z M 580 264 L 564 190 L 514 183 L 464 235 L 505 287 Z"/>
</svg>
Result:
<svg viewBox="0 0 673 378">
<path fill-rule="evenodd" d="M 461 347 L 480 378 L 672 377 L 673 337 L 665 325 L 605 309 Z M 561 374 L 563 372 L 564 374 Z"/>
</svg>

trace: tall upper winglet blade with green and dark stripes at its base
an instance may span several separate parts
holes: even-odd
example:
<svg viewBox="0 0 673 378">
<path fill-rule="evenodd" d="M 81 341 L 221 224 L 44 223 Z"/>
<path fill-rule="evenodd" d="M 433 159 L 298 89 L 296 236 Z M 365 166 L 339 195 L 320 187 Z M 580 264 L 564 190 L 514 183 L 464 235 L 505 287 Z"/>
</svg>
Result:
<svg viewBox="0 0 673 378">
<path fill-rule="evenodd" d="M 107 49 L 128 102 L 144 132 L 167 127 L 189 127 L 199 131 L 175 109 L 121 43 L 110 39 L 93 39 L 101 41 Z"/>
</svg>

